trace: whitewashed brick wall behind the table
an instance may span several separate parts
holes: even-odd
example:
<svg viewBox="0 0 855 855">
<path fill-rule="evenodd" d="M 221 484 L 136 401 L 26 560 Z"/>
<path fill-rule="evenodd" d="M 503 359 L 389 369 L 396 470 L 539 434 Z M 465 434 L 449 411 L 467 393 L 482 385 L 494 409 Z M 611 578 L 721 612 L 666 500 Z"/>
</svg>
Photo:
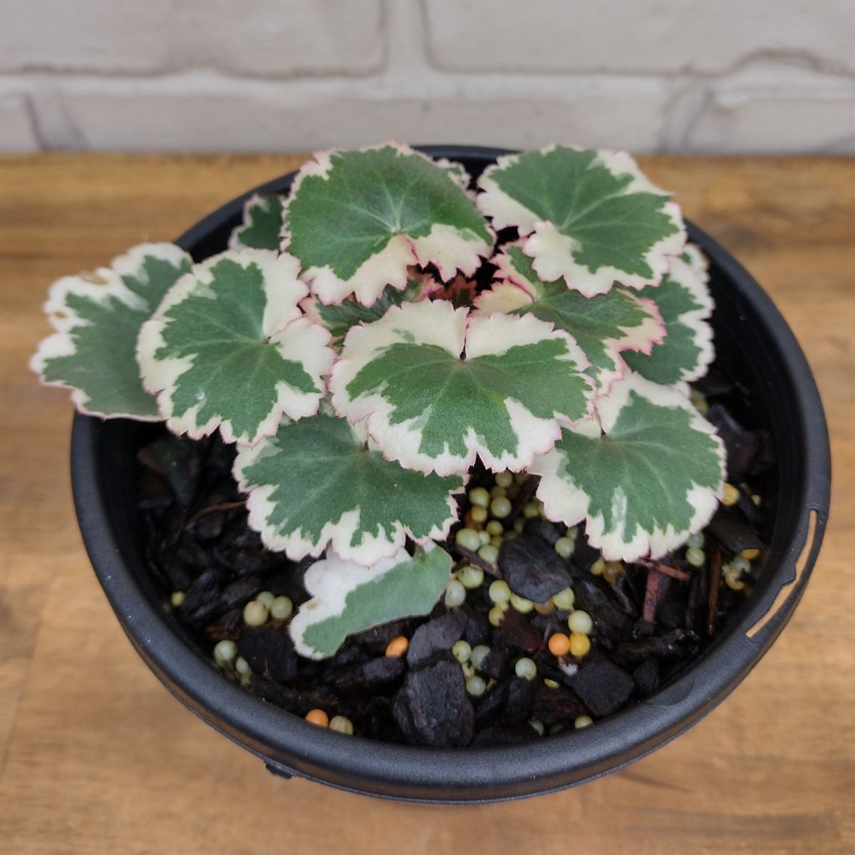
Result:
<svg viewBox="0 0 855 855">
<path fill-rule="evenodd" d="M 0 0 L 0 150 L 855 152 L 855 0 Z"/>
</svg>

